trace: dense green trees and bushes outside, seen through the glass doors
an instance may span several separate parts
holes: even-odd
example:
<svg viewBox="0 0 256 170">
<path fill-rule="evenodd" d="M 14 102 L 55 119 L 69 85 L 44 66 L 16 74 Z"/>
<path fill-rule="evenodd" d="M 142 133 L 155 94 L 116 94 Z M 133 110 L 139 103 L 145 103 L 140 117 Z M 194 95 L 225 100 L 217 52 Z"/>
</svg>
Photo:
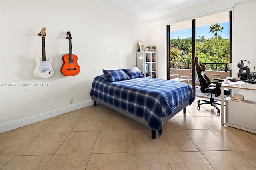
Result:
<svg viewBox="0 0 256 170">
<path fill-rule="evenodd" d="M 229 38 L 196 39 L 196 55 L 202 63 L 229 63 Z M 192 63 L 192 37 L 170 39 L 170 62 Z"/>
</svg>

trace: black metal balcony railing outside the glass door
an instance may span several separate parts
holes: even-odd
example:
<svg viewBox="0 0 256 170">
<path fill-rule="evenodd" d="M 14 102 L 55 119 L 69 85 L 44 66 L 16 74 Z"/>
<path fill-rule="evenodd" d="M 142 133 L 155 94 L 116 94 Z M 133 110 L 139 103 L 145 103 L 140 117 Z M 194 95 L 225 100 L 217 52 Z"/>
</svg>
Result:
<svg viewBox="0 0 256 170">
<path fill-rule="evenodd" d="M 229 71 L 228 63 L 202 63 L 206 70 L 214 71 Z M 189 69 L 192 70 L 192 63 L 170 63 L 170 68 L 173 69 Z"/>
</svg>

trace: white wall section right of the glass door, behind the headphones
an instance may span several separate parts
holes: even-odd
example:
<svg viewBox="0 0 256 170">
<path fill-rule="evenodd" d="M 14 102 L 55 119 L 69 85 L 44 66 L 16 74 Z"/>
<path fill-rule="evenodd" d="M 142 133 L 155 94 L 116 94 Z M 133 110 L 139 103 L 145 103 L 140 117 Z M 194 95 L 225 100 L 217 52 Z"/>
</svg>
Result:
<svg viewBox="0 0 256 170">
<path fill-rule="evenodd" d="M 256 66 L 256 1 L 235 4 L 233 20 L 232 63 L 233 76 L 236 77 L 238 61 L 248 60 L 251 72 Z M 246 61 L 244 64 L 249 66 Z"/>
</svg>

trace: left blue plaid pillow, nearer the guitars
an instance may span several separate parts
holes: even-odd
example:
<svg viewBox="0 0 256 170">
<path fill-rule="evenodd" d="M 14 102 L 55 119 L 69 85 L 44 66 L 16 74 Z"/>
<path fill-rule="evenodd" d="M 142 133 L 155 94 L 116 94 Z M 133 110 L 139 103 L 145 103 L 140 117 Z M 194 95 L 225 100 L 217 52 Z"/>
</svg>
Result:
<svg viewBox="0 0 256 170">
<path fill-rule="evenodd" d="M 125 74 L 122 69 L 119 70 L 103 70 L 104 75 L 110 82 L 120 81 L 120 80 L 130 80 L 130 77 Z"/>
</svg>

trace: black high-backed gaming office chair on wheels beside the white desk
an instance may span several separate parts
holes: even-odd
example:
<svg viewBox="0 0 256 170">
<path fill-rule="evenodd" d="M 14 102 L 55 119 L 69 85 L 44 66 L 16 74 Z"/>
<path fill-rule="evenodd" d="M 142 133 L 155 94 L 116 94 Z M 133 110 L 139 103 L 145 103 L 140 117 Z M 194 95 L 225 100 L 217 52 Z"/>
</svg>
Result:
<svg viewBox="0 0 256 170">
<path fill-rule="evenodd" d="M 208 100 L 198 100 L 197 103 L 197 108 L 200 108 L 200 105 L 202 104 L 211 104 L 211 106 L 214 106 L 217 109 L 217 113 L 220 114 L 220 109 L 217 107 L 217 105 L 221 105 L 219 103 L 217 103 L 216 100 L 214 100 L 214 98 L 212 98 L 212 94 L 218 95 L 220 94 L 220 85 L 222 84 L 222 82 L 212 82 L 210 80 L 210 78 L 208 78 L 206 76 L 206 74 L 204 73 L 205 71 L 205 67 L 204 65 L 200 62 L 200 58 L 198 56 L 196 56 L 195 58 L 195 65 L 196 65 L 196 72 L 198 75 L 198 79 L 200 82 L 200 91 L 202 93 L 209 93 L 211 94 L 211 98 L 210 101 Z M 203 66 L 203 68 L 201 67 Z M 210 84 L 216 84 L 216 86 L 212 87 L 210 86 Z M 225 91 L 225 95 L 230 95 L 230 92 L 227 90 Z M 204 103 L 200 104 L 200 101 L 204 101 Z"/>
</svg>

